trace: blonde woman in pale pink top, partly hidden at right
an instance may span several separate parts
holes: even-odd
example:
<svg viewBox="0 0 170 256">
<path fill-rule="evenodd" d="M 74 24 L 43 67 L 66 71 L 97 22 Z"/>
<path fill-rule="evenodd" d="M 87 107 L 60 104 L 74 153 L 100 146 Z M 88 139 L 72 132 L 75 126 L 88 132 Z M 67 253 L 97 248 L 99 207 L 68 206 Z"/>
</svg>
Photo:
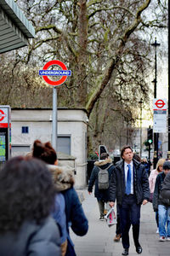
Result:
<svg viewBox="0 0 170 256">
<path fill-rule="evenodd" d="M 156 184 L 156 177 L 157 175 L 163 171 L 163 164 L 165 162 L 165 159 L 161 158 L 160 160 L 157 161 L 156 164 L 156 169 L 152 170 L 150 172 L 150 177 L 149 177 L 149 183 L 150 183 L 150 202 L 152 202 L 153 199 L 153 194 L 154 194 L 154 189 L 155 189 L 155 184 Z M 158 211 L 156 211 L 156 224 L 157 224 L 157 230 L 156 233 L 159 233 L 159 221 L 158 221 Z"/>
</svg>

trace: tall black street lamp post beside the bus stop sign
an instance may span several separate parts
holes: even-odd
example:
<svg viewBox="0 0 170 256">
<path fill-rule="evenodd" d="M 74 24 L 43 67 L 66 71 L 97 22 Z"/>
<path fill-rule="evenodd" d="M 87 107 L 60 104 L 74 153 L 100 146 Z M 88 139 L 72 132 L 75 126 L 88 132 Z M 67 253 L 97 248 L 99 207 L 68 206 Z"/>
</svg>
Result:
<svg viewBox="0 0 170 256">
<path fill-rule="evenodd" d="M 156 38 L 155 38 L 155 43 L 151 45 L 155 47 L 155 79 L 153 80 L 153 83 L 154 83 L 154 98 L 156 99 L 156 83 L 157 83 L 156 48 L 157 46 L 160 46 L 160 44 L 156 42 Z M 159 133 L 154 133 L 154 168 L 156 168 L 156 163 L 158 161 L 158 137 L 159 137 Z"/>
</svg>

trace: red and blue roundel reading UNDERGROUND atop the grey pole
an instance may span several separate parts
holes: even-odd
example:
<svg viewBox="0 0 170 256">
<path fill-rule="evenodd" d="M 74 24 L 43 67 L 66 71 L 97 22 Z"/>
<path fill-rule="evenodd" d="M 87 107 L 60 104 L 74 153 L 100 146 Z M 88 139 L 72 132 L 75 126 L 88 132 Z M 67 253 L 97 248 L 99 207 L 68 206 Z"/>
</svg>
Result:
<svg viewBox="0 0 170 256">
<path fill-rule="evenodd" d="M 51 66 L 59 66 L 61 70 L 49 70 L 48 67 Z M 68 76 L 71 76 L 71 70 L 68 70 L 65 64 L 62 61 L 54 60 L 54 61 L 48 61 L 42 68 L 42 70 L 39 70 L 39 75 L 42 76 L 42 78 L 46 81 L 46 83 L 50 85 L 60 85 L 65 82 Z M 48 79 L 48 76 L 60 76 L 61 78 L 57 81 L 53 81 L 51 79 Z"/>
</svg>

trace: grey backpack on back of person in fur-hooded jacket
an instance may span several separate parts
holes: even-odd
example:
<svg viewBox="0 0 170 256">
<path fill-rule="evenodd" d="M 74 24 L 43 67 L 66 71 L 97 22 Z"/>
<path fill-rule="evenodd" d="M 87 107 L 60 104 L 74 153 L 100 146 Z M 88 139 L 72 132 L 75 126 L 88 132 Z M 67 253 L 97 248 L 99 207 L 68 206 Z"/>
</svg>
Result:
<svg viewBox="0 0 170 256">
<path fill-rule="evenodd" d="M 108 189 L 109 188 L 109 172 L 108 169 L 113 166 L 112 164 L 105 169 L 99 168 L 98 173 L 98 186 L 99 189 Z M 99 166 L 98 166 L 99 167 Z"/>
</svg>

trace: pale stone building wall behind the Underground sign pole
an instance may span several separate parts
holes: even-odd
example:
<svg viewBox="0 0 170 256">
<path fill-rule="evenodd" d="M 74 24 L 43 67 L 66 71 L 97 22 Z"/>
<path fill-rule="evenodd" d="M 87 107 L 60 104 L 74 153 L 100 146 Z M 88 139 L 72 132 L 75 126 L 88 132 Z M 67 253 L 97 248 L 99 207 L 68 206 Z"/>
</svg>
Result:
<svg viewBox="0 0 170 256">
<path fill-rule="evenodd" d="M 58 108 L 57 152 L 75 159 L 77 189 L 84 188 L 87 180 L 87 120 L 84 109 Z M 36 139 L 51 142 L 52 109 L 12 108 L 11 137 L 13 156 L 30 152 Z"/>
</svg>

